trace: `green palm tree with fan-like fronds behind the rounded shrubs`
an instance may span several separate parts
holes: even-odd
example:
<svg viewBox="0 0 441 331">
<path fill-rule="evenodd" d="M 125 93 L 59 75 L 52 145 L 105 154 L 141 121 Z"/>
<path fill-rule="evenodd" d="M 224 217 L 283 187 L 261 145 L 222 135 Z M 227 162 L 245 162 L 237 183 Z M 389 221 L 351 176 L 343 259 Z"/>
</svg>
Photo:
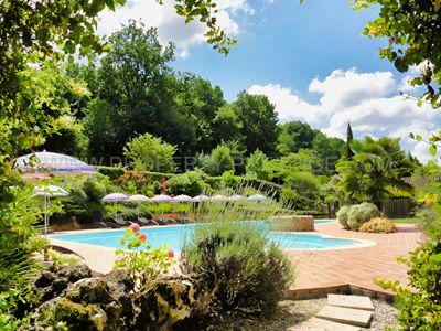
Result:
<svg viewBox="0 0 441 331">
<path fill-rule="evenodd" d="M 400 149 L 399 138 L 365 137 L 354 141 L 352 150 L 353 159 L 342 159 L 336 167 L 342 174 L 341 188 L 348 199 L 373 202 L 381 209 L 383 202 L 392 195 L 391 190 L 412 191 L 402 178 L 415 164 Z"/>
</svg>

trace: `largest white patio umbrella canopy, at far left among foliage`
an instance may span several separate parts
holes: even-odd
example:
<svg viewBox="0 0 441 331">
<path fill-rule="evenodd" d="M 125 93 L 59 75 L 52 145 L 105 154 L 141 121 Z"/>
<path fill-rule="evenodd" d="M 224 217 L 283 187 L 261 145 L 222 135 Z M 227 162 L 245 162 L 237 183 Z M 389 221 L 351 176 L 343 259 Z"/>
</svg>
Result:
<svg viewBox="0 0 441 331">
<path fill-rule="evenodd" d="M 69 156 L 43 150 L 17 158 L 15 168 L 25 173 L 95 173 L 95 168 Z"/>
</svg>

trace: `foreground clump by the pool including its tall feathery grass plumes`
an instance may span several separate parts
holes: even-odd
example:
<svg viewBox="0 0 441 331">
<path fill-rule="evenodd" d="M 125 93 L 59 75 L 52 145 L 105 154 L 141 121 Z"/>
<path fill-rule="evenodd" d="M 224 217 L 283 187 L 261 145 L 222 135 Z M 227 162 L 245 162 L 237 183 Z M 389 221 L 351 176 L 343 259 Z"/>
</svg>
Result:
<svg viewBox="0 0 441 331">
<path fill-rule="evenodd" d="M 182 268 L 202 279 L 217 311 L 270 313 L 292 284 L 291 261 L 268 237 L 266 221 L 278 206 L 268 200 L 200 207 L 205 222 L 185 238 Z"/>
</svg>

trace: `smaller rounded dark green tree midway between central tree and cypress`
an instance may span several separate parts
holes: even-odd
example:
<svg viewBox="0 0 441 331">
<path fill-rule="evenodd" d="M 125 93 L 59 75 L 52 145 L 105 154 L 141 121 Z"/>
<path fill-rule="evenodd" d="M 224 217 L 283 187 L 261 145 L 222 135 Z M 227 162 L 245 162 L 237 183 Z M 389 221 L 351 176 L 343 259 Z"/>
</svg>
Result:
<svg viewBox="0 0 441 331">
<path fill-rule="evenodd" d="M 312 148 L 318 130 L 306 122 L 289 121 L 280 126 L 277 149 L 282 156 L 297 153 L 300 149 Z"/>
</svg>

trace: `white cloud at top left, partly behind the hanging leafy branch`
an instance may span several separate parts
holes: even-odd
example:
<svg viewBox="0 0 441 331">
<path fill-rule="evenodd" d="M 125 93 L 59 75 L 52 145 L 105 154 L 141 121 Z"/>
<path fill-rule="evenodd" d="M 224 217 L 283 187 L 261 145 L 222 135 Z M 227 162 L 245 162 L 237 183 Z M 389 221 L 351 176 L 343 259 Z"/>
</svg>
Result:
<svg viewBox="0 0 441 331">
<path fill-rule="evenodd" d="M 246 0 L 219 0 L 216 14 L 218 25 L 227 33 L 235 35 L 240 32 L 237 23 L 239 13 L 254 14 L 254 9 Z M 98 32 L 110 34 L 126 24 L 130 19 L 141 20 L 147 26 L 157 26 L 161 43 L 172 41 L 178 46 L 180 56 L 189 56 L 193 45 L 205 41 L 206 26 L 197 20 L 185 24 L 184 19 L 175 13 L 174 2 L 165 0 L 159 4 L 154 0 L 133 0 L 127 6 L 119 7 L 115 12 L 105 11 L 100 14 Z"/>
</svg>

